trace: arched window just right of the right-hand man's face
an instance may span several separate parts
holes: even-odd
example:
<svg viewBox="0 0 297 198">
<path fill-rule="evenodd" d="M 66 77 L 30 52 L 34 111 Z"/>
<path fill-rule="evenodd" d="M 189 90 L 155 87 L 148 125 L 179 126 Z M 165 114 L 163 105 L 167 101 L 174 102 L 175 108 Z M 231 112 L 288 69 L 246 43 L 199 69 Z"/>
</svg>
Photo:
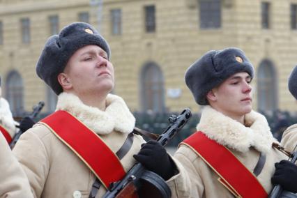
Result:
<svg viewBox="0 0 297 198">
<path fill-rule="evenodd" d="M 277 79 L 273 63 L 264 60 L 258 68 L 258 109 L 273 111 L 277 109 Z"/>
</svg>

